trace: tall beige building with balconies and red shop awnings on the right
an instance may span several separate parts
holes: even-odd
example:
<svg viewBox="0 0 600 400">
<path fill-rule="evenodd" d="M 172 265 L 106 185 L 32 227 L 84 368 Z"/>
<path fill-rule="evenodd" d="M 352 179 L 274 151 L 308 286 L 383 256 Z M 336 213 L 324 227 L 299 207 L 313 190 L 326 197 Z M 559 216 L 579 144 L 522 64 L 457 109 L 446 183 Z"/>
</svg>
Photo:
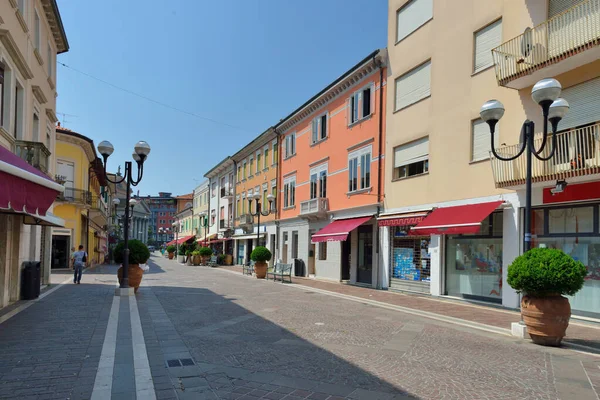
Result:
<svg viewBox="0 0 600 400">
<path fill-rule="evenodd" d="M 479 110 L 489 99 L 504 104 L 495 147 L 516 154 L 523 121 L 534 121 L 536 133 L 543 125 L 532 86 L 553 77 L 571 110 L 554 160 L 534 166 L 534 245 L 562 248 L 588 266 L 571 304 L 574 314 L 597 313 L 599 8 L 571 0 L 389 2 L 382 287 L 518 307 L 506 276 L 522 252 L 525 156 L 491 157 Z M 564 194 L 552 196 L 563 179 Z"/>
</svg>

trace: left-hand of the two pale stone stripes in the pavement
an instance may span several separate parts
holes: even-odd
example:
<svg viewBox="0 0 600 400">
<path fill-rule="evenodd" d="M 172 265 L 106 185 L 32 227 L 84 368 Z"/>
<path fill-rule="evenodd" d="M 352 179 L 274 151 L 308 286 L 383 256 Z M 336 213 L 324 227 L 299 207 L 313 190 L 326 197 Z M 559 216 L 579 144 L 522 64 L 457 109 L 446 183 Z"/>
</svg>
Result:
<svg viewBox="0 0 600 400">
<path fill-rule="evenodd" d="M 98 363 L 98 371 L 96 372 L 92 400 L 105 400 L 111 397 L 120 304 L 121 298 L 115 296 L 110 308 L 108 325 L 106 326 L 106 335 L 104 336 L 104 344 L 102 345 L 102 353 L 100 354 L 100 362 Z"/>
</svg>

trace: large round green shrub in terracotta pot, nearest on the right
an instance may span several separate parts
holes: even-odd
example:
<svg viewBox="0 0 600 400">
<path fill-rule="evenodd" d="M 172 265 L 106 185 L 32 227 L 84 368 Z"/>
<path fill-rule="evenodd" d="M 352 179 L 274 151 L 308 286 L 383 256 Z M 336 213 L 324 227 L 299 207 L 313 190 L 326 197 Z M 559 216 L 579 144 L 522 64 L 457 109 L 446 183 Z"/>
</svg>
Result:
<svg viewBox="0 0 600 400">
<path fill-rule="evenodd" d="M 558 249 L 536 248 L 508 267 L 508 284 L 519 293 L 521 316 L 534 343 L 558 346 L 565 336 L 573 296 L 583 286 L 587 269 Z"/>
</svg>

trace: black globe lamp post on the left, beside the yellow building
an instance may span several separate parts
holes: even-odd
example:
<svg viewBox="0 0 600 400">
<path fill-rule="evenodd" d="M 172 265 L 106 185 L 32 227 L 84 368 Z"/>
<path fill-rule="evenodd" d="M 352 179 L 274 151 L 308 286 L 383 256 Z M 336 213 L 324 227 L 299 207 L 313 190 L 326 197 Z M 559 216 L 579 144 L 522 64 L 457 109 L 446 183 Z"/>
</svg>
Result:
<svg viewBox="0 0 600 400">
<path fill-rule="evenodd" d="M 133 153 L 132 157 L 138 166 L 137 179 L 133 178 L 133 169 L 131 161 L 125 161 L 125 173 L 123 174 L 123 177 L 121 179 L 113 181 L 106 174 L 106 162 L 108 160 L 108 157 L 114 152 L 115 148 L 109 141 L 106 140 L 98 144 L 98 152 L 102 155 L 102 158 L 104 159 L 104 177 L 106 178 L 106 180 L 115 185 L 118 185 L 123 181 L 127 182 L 124 215 L 125 221 L 123 221 L 123 241 L 125 242 L 125 253 L 123 255 L 123 279 L 121 280 L 121 288 L 129 287 L 129 207 L 132 207 L 130 206 L 130 202 L 132 201 L 130 198 L 131 186 L 137 186 L 142 180 L 142 177 L 144 175 L 144 161 L 146 161 L 146 158 L 148 158 L 148 154 L 150 154 L 150 145 L 148 145 L 148 143 L 144 141 L 139 141 L 136 143 L 134 149 L 135 152 Z M 135 203 L 137 203 L 137 200 L 133 199 L 133 202 L 135 205 Z"/>
</svg>

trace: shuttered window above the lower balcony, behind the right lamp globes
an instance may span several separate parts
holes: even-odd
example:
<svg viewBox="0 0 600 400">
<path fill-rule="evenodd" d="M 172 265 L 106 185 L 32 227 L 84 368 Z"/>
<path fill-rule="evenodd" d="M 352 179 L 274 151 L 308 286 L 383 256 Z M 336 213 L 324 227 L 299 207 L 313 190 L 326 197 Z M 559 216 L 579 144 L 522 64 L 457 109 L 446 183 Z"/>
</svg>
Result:
<svg viewBox="0 0 600 400">
<path fill-rule="evenodd" d="M 558 123 L 558 129 L 600 121 L 600 78 L 563 89 L 560 97 L 569 102 L 569 112 Z"/>
</svg>

